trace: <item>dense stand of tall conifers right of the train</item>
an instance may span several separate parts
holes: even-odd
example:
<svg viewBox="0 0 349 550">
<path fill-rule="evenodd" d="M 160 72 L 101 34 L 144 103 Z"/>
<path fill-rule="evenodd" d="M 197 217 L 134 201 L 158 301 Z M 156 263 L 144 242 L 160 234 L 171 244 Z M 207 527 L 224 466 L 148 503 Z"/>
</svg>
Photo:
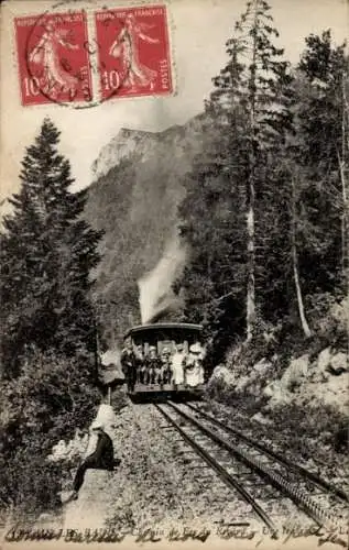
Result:
<svg viewBox="0 0 349 550">
<path fill-rule="evenodd" d="M 175 289 L 216 360 L 239 339 L 312 338 L 348 292 L 345 45 L 310 35 L 292 67 L 277 36 L 268 3 L 249 1 L 179 206 L 192 253 Z"/>
</svg>

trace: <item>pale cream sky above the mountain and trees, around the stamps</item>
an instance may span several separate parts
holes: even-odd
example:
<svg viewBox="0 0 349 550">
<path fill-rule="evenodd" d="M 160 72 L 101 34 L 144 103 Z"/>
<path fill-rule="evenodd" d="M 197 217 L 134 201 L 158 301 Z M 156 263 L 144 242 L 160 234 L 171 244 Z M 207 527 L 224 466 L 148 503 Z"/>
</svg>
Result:
<svg viewBox="0 0 349 550">
<path fill-rule="evenodd" d="M 225 64 L 225 42 L 246 4 L 244 0 L 172 0 L 171 34 L 177 81 L 174 97 L 116 99 L 80 111 L 56 105 L 21 107 L 12 18 L 14 13 L 40 13 L 52 3 L 10 0 L 2 4 L 0 200 L 18 190 L 24 147 L 31 144 L 45 116 L 62 131 L 62 152 L 70 158 L 76 187 L 81 188 L 91 183 L 92 162 L 120 128 L 157 131 L 181 124 L 201 111 L 203 100 L 211 90 L 211 77 Z M 112 8 L 129 3 L 128 0 L 77 0 L 76 6 Z M 331 29 L 337 43 L 348 35 L 347 0 L 270 0 L 270 4 L 281 35 L 280 45 L 292 62 L 298 59 L 304 37 L 309 33 Z"/>
</svg>

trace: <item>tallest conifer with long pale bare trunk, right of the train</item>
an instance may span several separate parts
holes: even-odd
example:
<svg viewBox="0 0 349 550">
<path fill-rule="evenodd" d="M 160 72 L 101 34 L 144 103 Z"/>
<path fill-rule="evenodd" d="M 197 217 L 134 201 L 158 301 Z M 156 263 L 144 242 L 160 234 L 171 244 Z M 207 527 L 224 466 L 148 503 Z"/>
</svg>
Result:
<svg viewBox="0 0 349 550">
<path fill-rule="evenodd" d="M 272 26 L 272 21 L 270 7 L 264 0 L 247 2 L 247 10 L 236 24 L 236 35 L 227 43 L 230 59 L 215 81 L 215 99 L 225 101 L 228 96 L 228 100 L 239 103 L 240 109 L 246 112 L 243 138 L 248 153 L 248 340 L 252 339 L 257 321 L 257 202 L 263 200 L 265 184 L 270 185 L 271 170 L 265 169 L 269 155 L 277 154 L 277 146 L 283 141 L 291 118 L 285 96 L 288 84 L 287 64 L 282 59 L 283 50 L 273 43 L 279 33 Z M 237 68 L 239 77 L 231 82 L 230 75 L 237 73 Z M 260 227 L 262 232 L 268 229 L 261 223 Z M 262 243 L 259 245 L 262 250 Z"/>
</svg>

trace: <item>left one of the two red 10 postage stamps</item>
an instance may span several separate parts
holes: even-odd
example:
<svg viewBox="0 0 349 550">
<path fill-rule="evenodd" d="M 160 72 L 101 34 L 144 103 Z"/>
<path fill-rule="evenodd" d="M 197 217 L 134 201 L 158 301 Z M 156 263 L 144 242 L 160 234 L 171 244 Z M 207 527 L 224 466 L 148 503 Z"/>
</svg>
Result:
<svg viewBox="0 0 349 550">
<path fill-rule="evenodd" d="M 23 106 L 92 100 L 84 12 L 14 20 Z"/>
</svg>

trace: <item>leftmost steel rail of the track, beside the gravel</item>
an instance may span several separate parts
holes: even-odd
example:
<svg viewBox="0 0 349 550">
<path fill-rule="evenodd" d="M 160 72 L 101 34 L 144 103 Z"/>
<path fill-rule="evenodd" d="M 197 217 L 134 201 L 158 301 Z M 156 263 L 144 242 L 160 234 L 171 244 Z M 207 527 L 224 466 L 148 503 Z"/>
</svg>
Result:
<svg viewBox="0 0 349 550">
<path fill-rule="evenodd" d="M 242 498 L 251 505 L 257 516 L 264 521 L 268 528 L 271 530 L 272 537 L 277 538 L 277 529 L 273 521 L 270 519 L 268 514 L 263 508 L 254 501 L 254 498 L 246 491 L 246 488 L 232 476 L 230 475 L 217 461 L 214 459 L 201 446 L 194 441 L 190 436 L 188 436 L 177 422 L 171 418 L 170 415 L 157 404 L 154 407 L 164 416 L 164 418 L 170 422 L 181 435 L 181 437 L 195 450 L 199 457 L 218 474 L 221 481 L 229 487 L 235 488 Z"/>
</svg>

